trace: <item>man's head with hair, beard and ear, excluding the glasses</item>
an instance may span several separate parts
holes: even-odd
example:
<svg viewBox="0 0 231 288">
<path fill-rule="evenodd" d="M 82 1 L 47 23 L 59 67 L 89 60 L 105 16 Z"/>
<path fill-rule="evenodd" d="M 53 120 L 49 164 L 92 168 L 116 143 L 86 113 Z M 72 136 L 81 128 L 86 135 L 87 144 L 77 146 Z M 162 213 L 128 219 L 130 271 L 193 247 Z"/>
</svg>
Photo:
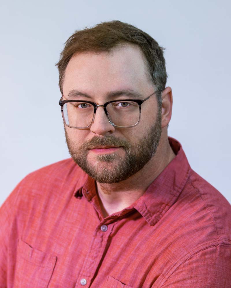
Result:
<svg viewBox="0 0 231 288">
<path fill-rule="evenodd" d="M 162 48 L 149 35 L 129 24 L 107 22 L 74 33 L 57 65 L 63 100 L 103 105 L 114 100 L 144 100 L 156 91 L 157 97 L 151 96 L 142 104 L 137 126 L 111 125 L 103 107 L 97 108 L 90 127 L 65 126 L 72 158 L 98 182 L 117 183 L 137 173 L 153 158 L 162 127 L 167 126 L 171 117 L 171 101 L 165 97 L 171 91 L 165 89 Z M 163 97 L 167 103 L 164 106 Z M 118 103 L 121 108 L 121 102 Z M 83 110 L 89 106 L 73 107 Z"/>
</svg>

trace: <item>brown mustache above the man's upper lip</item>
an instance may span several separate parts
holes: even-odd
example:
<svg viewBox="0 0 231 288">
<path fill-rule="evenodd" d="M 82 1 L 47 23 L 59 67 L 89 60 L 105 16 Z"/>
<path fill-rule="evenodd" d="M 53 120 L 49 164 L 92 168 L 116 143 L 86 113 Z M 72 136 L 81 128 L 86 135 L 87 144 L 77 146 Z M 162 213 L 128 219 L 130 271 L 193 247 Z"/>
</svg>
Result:
<svg viewBox="0 0 231 288">
<path fill-rule="evenodd" d="M 127 140 L 110 135 L 104 137 L 94 136 L 92 139 L 83 143 L 81 149 L 94 149 L 97 146 L 121 146 L 125 150 L 131 149 L 131 144 Z"/>
</svg>

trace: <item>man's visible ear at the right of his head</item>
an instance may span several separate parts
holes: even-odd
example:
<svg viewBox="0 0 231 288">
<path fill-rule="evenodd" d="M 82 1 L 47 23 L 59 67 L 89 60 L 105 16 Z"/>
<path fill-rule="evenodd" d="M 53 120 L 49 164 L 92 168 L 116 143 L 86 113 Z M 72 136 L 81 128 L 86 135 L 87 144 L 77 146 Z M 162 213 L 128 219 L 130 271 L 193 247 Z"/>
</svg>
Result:
<svg viewBox="0 0 231 288">
<path fill-rule="evenodd" d="M 162 92 L 161 128 L 168 125 L 172 117 L 172 89 L 166 87 Z"/>
</svg>

